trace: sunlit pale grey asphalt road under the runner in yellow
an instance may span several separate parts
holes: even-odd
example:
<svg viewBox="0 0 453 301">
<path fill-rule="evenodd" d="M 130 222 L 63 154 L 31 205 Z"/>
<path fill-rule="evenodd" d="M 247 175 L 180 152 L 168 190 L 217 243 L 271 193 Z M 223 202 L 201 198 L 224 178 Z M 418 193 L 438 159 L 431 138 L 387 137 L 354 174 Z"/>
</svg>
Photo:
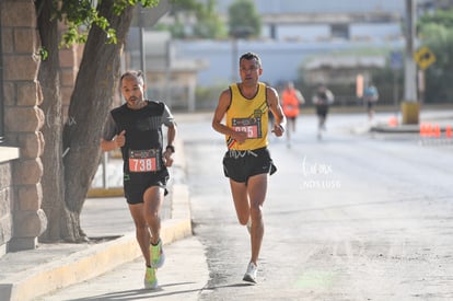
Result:
<svg viewBox="0 0 453 301">
<path fill-rule="evenodd" d="M 257 286 L 242 281 L 248 233 L 236 222 L 210 117 L 181 121 L 195 235 L 210 280 L 200 300 L 453 299 L 453 153 L 417 135 L 351 135 L 336 115 L 316 139 L 299 119 L 291 147 L 271 139 L 278 172 L 265 202 Z"/>
</svg>

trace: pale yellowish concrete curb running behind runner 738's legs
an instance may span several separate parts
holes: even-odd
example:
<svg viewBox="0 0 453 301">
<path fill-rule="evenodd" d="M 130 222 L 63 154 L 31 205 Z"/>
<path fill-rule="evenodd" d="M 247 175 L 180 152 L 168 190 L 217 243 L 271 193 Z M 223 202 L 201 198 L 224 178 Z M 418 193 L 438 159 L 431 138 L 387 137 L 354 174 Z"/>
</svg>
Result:
<svg viewBox="0 0 453 301">
<path fill-rule="evenodd" d="M 172 219 L 162 221 L 164 244 L 191 235 L 188 187 L 173 186 Z M 72 253 L 0 281 L 0 300 L 24 301 L 102 275 L 141 256 L 136 233 Z"/>
</svg>

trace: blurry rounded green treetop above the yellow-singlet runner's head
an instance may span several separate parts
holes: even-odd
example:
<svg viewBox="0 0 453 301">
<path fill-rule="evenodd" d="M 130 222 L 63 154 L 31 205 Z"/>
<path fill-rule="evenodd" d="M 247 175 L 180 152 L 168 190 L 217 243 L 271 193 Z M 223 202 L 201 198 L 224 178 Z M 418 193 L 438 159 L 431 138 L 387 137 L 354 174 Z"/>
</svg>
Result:
<svg viewBox="0 0 453 301">
<path fill-rule="evenodd" d="M 262 19 L 252 0 L 235 0 L 229 8 L 230 34 L 235 37 L 258 36 Z"/>
</svg>

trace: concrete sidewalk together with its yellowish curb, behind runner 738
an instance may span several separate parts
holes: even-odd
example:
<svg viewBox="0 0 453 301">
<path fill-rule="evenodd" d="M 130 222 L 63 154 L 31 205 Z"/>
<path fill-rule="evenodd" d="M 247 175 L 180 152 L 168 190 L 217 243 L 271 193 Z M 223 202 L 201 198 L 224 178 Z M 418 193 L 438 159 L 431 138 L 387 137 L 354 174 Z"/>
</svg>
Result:
<svg viewBox="0 0 453 301">
<path fill-rule="evenodd" d="M 176 144 L 172 174 L 185 172 L 183 144 Z M 121 171 L 116 171 L 121 173 Z M 188 187 L 173 181 L 165 199 L 169 212 L 161 236 L 170 244 L 191 235 Z M 8 253 L 0 258 L 0 300 L 32 300 L 102 275 L 141 256 L 124 197 L 88 198 L 81 225 L 90 243 L 39 244 L 36 250 Z"/>
</svg>

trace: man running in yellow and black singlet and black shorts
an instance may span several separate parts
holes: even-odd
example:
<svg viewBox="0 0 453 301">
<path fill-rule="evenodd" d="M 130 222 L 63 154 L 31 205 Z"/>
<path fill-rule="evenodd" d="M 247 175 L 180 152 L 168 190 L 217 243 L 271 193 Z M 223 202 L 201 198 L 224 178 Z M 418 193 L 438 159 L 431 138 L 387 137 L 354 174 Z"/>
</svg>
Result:
<svg viewBox="0 0 453 301">
<path fill-rule="evenodd" d="M 240 58 L 241 82 L 222 91 L 212 118 L 212 128 L 225 136 L 228 151 L 223 171 L 230 187 L 239 222 L 247 225 L 252 256 L 243 280 L 256 282 L 257 259 L 264 235 L 263 205 L 268 174 L 276 171 L 268 146 L 268 111 L 275 117 L 271 131 L 280 137 L 287 119 L 277 91 L 259 82 L 262 61 L 256 54 Z M 225 117 L 224 124 L 222 124 Z"/>
</svg>

